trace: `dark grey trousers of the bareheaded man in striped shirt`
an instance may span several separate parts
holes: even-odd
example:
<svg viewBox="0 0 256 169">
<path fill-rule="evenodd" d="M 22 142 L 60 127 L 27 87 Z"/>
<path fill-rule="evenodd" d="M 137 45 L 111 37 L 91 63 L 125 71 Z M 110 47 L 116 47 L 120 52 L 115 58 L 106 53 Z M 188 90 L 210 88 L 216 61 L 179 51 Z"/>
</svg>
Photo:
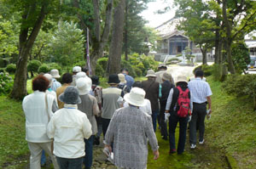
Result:
<svg viewBox="0 0 256 169">
<path fill-rule="evenodd" d="M 199 125 L 199 141 L 204 139 L 207 104 L 193 103 L 192 119 L 189 122 L 189 143 L 196 144 L 196 123 Z"/>
</svg>

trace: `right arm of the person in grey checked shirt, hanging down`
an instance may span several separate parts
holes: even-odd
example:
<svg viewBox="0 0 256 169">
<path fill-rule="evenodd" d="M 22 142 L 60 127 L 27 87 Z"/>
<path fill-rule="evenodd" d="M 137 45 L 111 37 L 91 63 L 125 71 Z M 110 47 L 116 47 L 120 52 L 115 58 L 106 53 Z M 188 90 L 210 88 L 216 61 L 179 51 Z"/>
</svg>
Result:
<svg viewBox="0 0 256 169">
<path fill-rule="evenodd" d="M 156 160 L 159 158 L 159 151 L 158 151 L 159 146 L 153 130 L 152 118 L 149 115 L 146 117 L 146 121 L 145 121 L 145 132 L 146 132 L 146 136 L 148 138 L 150 147 L 153 150 L 154 160 Z"/>
</svg>

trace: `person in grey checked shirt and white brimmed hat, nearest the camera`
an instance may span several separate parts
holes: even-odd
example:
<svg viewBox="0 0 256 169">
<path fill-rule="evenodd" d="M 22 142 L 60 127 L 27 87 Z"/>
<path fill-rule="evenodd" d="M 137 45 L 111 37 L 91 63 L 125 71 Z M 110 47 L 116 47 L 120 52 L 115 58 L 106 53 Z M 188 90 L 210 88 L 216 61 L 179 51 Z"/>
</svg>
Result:
<svg viewBox="0 0 256 169">
<path fill-rule="evenodd" d="M 105 147 L 111 152 L 113 143 L 113 163 L 119 168 L 145 169 L 148 161 L 148 141 L 158 159 L 159 151 L 151 116 L 139 110 L 145 104 L 145 92 L 133 87 L 125 94 L 128 107 L 116 110 L 105 136 Z"/>
</svg>

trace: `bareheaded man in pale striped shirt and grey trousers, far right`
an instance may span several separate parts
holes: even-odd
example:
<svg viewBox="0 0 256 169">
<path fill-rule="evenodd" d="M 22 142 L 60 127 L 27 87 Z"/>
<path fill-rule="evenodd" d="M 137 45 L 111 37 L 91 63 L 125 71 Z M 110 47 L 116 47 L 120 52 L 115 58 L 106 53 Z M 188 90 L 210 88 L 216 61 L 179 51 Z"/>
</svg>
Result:
<svg viewBox="0 0 256 169">
<path fill-rule="evenodd" d="M 202 81 L 203 70 L 195 71 L 195 80 L 189 82 L 189 91 L 193 102 L 192 119 L 189 122 L 189 143 L 190 149 L 196 147 L 196 123 L 199 125 L 199 144 L 204 144 L 205 117 L 207 115 L 207 104 L 209 114 L 212 113 L 211 106 L 212 91 L 209 84 Z"/>
</svg>

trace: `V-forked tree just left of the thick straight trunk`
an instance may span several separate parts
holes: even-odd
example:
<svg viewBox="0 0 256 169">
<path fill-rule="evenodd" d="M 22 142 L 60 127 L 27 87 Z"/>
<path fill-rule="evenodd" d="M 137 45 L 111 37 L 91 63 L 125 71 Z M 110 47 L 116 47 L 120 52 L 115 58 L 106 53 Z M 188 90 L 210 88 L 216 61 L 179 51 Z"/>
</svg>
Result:
<svg viewBox="0 0 256 169">
<path fill-rule="evenodd" d="M 84 8 L 83 3 L 84 1 L 73 0 L 73 6 L 78 8 L 77 16 L 84 34 L 87 33 L 87 27 L 90 29 L 90 64 L 92 74 L 95 74 L 96 60 L 103 56 L 104 48 L 108 42 L 112 25 L 113 0 L 105 0 L 103 3 L 99 0 L 92 0 L 93 13 L 91 18 L 86 17 L 88 8 Z"/>
</svg>

